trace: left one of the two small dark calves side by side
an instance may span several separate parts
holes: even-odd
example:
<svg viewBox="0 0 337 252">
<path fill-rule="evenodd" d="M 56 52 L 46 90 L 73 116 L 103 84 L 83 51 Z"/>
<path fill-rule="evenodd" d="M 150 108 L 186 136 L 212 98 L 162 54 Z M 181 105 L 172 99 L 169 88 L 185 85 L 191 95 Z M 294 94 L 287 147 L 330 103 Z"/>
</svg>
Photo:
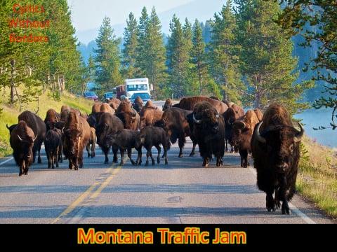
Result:
<svg viewBox="0 0 337 252">
<path fill-rule="evenodd" d="M 125 151 L 128 151 L 128 158 L 130 159 L 132 165 L 142 164 L 142 146 L 136 148 L 136 136 L 138 133 L 139 132 L 136 130 L 120 130 L 116 134 L 109 136 L 110 145 L 117 145 L 119 147 L 119 151 L 121 152 L 120 165 L 124 165 L 123 159 Z M 131 157 L 133 148 L 136 148 L 136 151 L 138 152 L 136 162 L 133 161 Z"/>
</svg>

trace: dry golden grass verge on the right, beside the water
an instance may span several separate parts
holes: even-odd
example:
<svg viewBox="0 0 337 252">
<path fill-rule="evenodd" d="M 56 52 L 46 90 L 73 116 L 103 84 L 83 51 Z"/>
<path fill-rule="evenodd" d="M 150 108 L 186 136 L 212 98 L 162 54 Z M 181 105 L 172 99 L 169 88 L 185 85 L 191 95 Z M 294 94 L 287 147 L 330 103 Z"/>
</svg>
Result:
<svg viewBox="0 0 337 252">
<path fill-rule="evenodd" d="M 337 218 L 337 153 L 308 137 L 303 139 L 303 144 L 308 153 L 300 160 L 296 183 L 298 193 L 329 216 Z"/>
</svg>

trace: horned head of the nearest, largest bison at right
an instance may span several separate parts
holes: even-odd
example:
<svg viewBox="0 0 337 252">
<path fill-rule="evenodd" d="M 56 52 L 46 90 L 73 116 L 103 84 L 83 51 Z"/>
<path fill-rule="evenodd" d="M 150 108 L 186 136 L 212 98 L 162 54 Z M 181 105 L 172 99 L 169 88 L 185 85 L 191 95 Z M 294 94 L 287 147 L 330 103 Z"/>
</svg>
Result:
<svg viewBox="0 0 337 252">
<path fill-rule="evenodd" d="M 300 130 L 288 125 L 273 125 L 260 132 L 262 124 L 263 122 L 256 125 L 254 137 L 265 148 L 270 165 L 275 167 L 278 173 L 286 173 L 299 156 L 303 127 L 300 123 Z"/>
</svg>

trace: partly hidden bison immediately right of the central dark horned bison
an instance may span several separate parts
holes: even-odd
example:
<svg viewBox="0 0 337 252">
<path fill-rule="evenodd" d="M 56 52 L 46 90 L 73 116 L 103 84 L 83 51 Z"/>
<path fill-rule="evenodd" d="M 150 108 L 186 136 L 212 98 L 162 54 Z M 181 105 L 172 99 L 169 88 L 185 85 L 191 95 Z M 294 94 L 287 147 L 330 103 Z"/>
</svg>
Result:
<svg viewBox="0 0 337 252">
<path fill-rule="evenodd" d="M 244 109 L 236 104 L 233 104 L 225 113 L 223 113 L 223 119 L 225 120 L 225 151 L 228 152 L 228 144 L 232 143 L 232 126 L 236 120 L 244 116 Z M 233 153 L 233 146 L 230 153 Z"/>
</svg>

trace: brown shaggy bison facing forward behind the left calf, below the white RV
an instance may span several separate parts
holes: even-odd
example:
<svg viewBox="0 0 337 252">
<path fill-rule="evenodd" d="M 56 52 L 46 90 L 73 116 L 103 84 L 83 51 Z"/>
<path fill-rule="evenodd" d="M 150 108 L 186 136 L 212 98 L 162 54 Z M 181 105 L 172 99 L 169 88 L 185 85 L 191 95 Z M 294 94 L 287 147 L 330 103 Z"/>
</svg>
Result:
<svg viewBox="0 0 337 252">
<path fill-rule="evenodd" d="M 126 101 L 121 102 L 116 111 L 116 116 L 123 122 L 124 128 L 127 130 L 140 129 L 140 116 L 135 109 Z"/>
</svg>

